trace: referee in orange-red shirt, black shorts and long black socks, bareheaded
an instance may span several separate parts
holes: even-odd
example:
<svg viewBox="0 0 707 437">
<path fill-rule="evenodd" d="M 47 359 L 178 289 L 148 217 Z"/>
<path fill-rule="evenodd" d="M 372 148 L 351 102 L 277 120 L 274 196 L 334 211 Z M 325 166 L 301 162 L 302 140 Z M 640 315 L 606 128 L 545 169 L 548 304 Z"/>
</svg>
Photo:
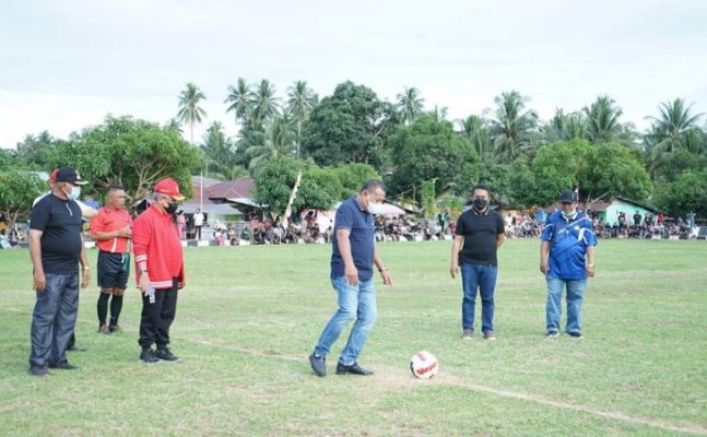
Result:
<svg viewBox="0 0 707 437">
<path fill-rule="evenodd" d="M 120 330 L 118 318 L 122 295 L 130 275 L 130 236 L 132 218 L 126 211 L 126 191 L 120 186 L 108 187 L 106 205 L 91 220 L 91 237 L 98 246 L 98 332 L 109 334 Z M 106 322 L 110 300 L 110 324 Z"/>
</svg>

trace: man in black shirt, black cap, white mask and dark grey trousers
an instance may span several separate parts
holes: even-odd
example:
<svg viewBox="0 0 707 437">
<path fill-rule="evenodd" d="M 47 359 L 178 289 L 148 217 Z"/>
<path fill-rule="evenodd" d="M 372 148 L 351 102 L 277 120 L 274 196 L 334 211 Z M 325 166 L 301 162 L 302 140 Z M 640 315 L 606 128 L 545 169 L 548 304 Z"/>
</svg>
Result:
<svg viewBox="0 0 707 437">
<path fill-rule="evenodd" d="M 32 317 L 30 373 L 49 374 L 47 367 L 75 369 L 67 349 L 79 312 L 79 263 L 81 287 L 91 275 L 81 234 L 81 208 L 75 202 L 86 181 L 70 167 L 59 168 L 51 193 L 39 199 L 31 213 L 30 256 L 34 265 L 36 304 Z"/>
</svg>

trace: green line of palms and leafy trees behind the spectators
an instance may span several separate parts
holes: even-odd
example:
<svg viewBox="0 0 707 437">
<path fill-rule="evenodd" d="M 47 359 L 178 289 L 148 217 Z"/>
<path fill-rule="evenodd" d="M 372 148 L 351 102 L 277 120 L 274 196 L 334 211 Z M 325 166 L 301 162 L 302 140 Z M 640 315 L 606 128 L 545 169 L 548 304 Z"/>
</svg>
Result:
<svg viewBox="0 0 707 437">
<path fill-rule="evenodd" d="M 707 216 L 707 125 L 682 98 L 660 103 L 647 117 L 650 128 L 638 132 L 606 95 L 541 120 L 528 96 L 509 91 L 482 114 L 450 120 L 445 107 L 427 108 L 415 87 L 387 102 L 347 81 L 319 98 L 297 81 L 281 98 L 267 79 L 240 78 L 223 99 L 238 134 L 227 137 L 213 121 L 195 140 L 195 126 L 208 119 L 205 99 L 188 83 L 176 117 L 164 125 L 108 116 L 66 140 L 30 134 L 15 151 L 2 151 L 0 184 L 3 174 L 73 165 L 94 181 L 95 194 L 121 182 L 138 198 L 164 175 L 187 191 L 190 175 L 250 175 L 257 200 L 282 213 L 286 188 L 304 170 L 301 208 L 330 208 L 355 191 L 353 182 L 381 177 L 389 198 L 417 204 L 429 205 L 425 197 L 441 190 L 461 201 L 482 181 L 496 201 L 514 208 L 544 205 L 579 187 L 582 202 L 625 197 L 669 215 Z M 11 196 L 2 192 L 0 208 L 9 211 Z"/>
</svg>

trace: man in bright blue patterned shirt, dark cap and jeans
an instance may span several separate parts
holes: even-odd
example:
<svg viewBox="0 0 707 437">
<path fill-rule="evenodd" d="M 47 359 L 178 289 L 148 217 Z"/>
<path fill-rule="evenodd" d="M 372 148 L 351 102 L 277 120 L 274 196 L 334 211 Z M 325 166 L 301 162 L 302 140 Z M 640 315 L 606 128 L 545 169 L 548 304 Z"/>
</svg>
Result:
<svg viewBox="0 0 707 437">
<path fill-rule="evenodd" d="M 597 237 L 591 218 L 577 211 L 575 192 L 559 197 L 562 210 L 551 214 L 542 232 L 540 271 L 547 283 L 545 305 L 546 335 L 558 336 L 562 292 L 567 288 L 567 326 L 565 332 L 581 338 L 581 304 L 587 276 L 594 276 Z"/>
</svg>

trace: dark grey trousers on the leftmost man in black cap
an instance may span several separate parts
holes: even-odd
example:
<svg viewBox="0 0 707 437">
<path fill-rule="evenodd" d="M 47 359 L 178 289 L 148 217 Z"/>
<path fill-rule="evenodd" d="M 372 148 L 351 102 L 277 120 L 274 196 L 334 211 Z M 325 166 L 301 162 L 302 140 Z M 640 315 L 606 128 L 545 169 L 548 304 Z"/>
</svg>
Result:
<svg viewBox="0 0 707 437">
<path fill-rule="evenodd" d="M 46 273 L 32 316 L 31 366 L 67 361 L 67 347 L 79 315 L 79 274 Z"/>
</svg>

